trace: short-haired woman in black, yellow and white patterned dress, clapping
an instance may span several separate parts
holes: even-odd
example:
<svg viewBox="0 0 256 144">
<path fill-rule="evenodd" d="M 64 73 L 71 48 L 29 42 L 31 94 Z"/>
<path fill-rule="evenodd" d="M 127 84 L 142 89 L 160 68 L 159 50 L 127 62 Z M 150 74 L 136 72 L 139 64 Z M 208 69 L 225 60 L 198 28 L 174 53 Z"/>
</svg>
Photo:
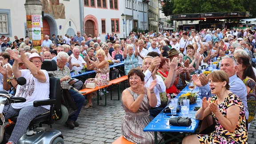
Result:
<svg viewBox="0 0 256 144">
<path fill-rule="evenodd" d="M 224 71 L 210 73 L 209 82 L 212 96 L 202 99 L 202 107 L 196 112 L 196 119 L 203 120 L 212 114 L 215 131 L 208 134 L 186 136 L 182 144 L 247 144 L 244 104 L 238 96 L 229 91 L 228 74 Z M 199 79 L 198 79 L 199 80 Z"/>
</svg>

